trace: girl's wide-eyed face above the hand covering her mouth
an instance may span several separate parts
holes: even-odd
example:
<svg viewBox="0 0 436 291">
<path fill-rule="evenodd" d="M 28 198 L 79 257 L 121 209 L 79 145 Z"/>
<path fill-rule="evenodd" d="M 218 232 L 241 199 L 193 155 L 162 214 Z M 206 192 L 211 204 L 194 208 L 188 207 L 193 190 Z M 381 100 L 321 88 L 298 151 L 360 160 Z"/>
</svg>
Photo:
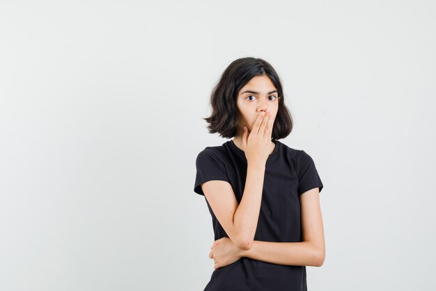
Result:
<svg viewBox="0 0 436 291">
<path fill-rule="evenodd" d="M 238 92 L 236 107 L 238 108 L 238 133 L 249 131 L 254 126 L 260 112 L 270 108 L 270 118 L 275 119 L 279 110 L 279 94 L 267 75 L 251 78 Z"/>
</svg>

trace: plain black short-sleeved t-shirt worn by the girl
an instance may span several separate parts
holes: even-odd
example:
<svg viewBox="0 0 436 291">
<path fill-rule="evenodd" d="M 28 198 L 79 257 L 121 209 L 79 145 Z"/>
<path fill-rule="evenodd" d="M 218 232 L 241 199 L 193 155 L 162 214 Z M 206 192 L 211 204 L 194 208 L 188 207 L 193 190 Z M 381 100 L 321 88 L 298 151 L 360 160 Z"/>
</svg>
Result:
<svg viewBox="0 0 436 291">
<path fill-rule="evenodd" d="M 292 149 L 279 140 L 265 164 L 265 177 L 258 225 L 254 240 L 302 241 L 299 195 L 312 188 L 322 189 L 322 182 L 309 154 Z M 238 204 L 247 178 L 247 158 L 233 140 L 221 146 L 205 147 L 196 158 L 194 192 L 204 196 L 201 184 L 210 180 L 228 181 Z M 228 237 L 206 200 L 215 240 Z M 242 257 L 232 264 L 215 269 L 203 291 L 307 290 L 306 266 L 273 264 Z"/>
</svg>

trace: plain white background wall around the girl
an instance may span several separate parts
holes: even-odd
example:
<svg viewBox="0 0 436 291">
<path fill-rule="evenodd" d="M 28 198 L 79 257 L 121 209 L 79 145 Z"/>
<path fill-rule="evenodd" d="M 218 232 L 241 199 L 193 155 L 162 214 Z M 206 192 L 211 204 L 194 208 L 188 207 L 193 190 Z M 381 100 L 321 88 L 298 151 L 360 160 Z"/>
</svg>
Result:
<svg viewBox="0 0 436 291">
<path fill-rule="evenodd" d="M 315 290 L 435 290 L 434 1 L 1 1 L 0 290 L 203 290 L 195 158 L 234 59 L 312 156 Z"/>
</svg>

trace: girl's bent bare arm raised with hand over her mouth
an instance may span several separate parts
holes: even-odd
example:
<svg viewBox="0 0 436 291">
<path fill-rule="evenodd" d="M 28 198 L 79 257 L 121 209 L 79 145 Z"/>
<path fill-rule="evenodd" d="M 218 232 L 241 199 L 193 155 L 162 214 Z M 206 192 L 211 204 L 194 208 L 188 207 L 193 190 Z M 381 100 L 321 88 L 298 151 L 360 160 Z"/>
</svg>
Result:
<svg viewBox="0 0 436 291">
<path fill-rule="evenodd" d="M 243 250 L 251 248 L 258 225 L 265 164 L 268 158 L 267 148 L 271 143 L 270 137 L 274 121 L 274 119 L 268 119 L 269 115 L 270 112 L 259 114 L 253 131 L 249 133 L 247 129 L 242 136 L 243 144 L 247 144 L 244 146 L 247 157 L 247 178 L 240 204 L 235 198 L 231 184 L 226 181 L 211 180 L 201 185 L 203 193 L 224 231 Z M 258 132 L 261 134 L 258 135 Z M 263 135 L 264 132 L 265 135 Z M 251 137 L 249 144 L 254 144 L 254 146 L 249 147 L 249 137 Z M 257 151 L 260 151 L 260 154 Z"/>
</svg>

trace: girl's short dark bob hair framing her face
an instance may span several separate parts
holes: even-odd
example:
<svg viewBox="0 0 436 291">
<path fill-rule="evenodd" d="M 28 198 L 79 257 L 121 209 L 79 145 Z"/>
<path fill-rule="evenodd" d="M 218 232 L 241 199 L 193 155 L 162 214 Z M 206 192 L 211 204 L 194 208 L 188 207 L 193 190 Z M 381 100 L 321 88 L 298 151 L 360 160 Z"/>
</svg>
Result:
<svg viewBox="0 0 436 291">
<path fill-rule="evenodd" d="M 290 134 L 293 129 L 293 119 L 284 103 L 280 78 L 267 61 L 254 57 L 244 57 L 233 61 L 212 89 L 210 96 L 212 114 L 210 117 L 203 118 L 209 123 L 209 133 L 219 133 L 225 138 L 235 137 L 238 126 L 238 108 L 236 107 L 238 92 L 251 78 L 259 75 L 267 75 L 270 78 L 280 97 L 279 110 L 272 128 L 272 140 L 279 140 Z"/>
</svg>

